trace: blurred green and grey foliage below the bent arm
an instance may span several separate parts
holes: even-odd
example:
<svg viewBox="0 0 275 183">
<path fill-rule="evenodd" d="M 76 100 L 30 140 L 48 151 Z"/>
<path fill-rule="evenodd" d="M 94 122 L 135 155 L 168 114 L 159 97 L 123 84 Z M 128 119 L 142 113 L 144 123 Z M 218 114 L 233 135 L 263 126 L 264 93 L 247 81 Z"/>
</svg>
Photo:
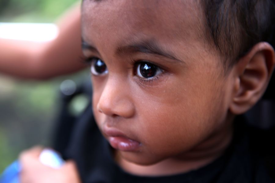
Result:
<svg viewBox="0 0 275 183">
<path fill-rule="evenodd" d="M 19 152 L 35 144 L 50 145 L 58 112 L 59 81 L 27 82 L 1 77 L 0 171 Z M 3 158 L 4 157 L 4 158 Z"/>
</svg>

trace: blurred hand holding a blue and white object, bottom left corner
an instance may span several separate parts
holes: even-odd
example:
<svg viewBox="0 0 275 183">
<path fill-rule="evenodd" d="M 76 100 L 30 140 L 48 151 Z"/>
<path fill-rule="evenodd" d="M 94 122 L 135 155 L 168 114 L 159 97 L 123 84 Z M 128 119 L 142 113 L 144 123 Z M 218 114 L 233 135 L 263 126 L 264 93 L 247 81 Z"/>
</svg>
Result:
<svg viewBox="0 0 275 183">
<path fill-rule="evenodd" d="M 20 154 L 21 183 L 80 183 L 80 178 L 73 161 L 66 161 L 58 169 L 43 165 L 39 161 L 41 147 L 34 147 Z"/>
</svg>

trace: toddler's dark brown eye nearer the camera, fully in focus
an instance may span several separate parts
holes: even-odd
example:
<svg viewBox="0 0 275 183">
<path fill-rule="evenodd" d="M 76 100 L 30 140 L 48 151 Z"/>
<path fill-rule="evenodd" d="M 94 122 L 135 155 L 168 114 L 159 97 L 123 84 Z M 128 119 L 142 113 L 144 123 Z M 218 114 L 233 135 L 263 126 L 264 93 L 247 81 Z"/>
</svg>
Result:
<svg viewBox="0 0 275 183">
<path fill-rule="evenodd" d="M 149 62 L 140 62 L 137 66 L 137 75 L 141 78 L 152 78 L 161 74 L 163 70 Z"/>
</svg>

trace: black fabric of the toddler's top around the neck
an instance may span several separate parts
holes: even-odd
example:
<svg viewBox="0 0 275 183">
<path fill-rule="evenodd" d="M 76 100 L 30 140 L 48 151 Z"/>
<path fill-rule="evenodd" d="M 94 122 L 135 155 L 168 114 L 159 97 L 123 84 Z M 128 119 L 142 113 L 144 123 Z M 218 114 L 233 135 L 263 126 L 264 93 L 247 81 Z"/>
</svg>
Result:
<svg viewBox="0 0 275 183">
<path fill-rule="evenodd" d="M 233 141 L 220 158 L 198 170 L 173 176 L 142 177 L 124 172 L 112 159 L 111 147 L 95 124 L 91 105 L 71 129 L 67 147 L 59 150 L 65 159 L 76 161 L 84 183 L 273 182 L 261 161 L 260 152 L 263 147 L 258 143 L 261 142 L 261 138 L 257 138 L 259 132 L 251 130 L 244 121 L 242 117 L 236 119 Z"/>
</svg>

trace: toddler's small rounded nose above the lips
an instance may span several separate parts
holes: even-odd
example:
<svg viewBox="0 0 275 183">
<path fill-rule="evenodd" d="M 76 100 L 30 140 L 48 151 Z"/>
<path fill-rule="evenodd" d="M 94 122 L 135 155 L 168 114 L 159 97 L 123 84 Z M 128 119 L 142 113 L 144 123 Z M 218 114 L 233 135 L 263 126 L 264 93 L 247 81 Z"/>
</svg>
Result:
<svg viewBox="0 0 275 183">
<path fill-rule="evenodd" d="M 97 103 L 97 110 L 111 117 L 132 117 L 135 108 L 130 93 L 124 81 L 108 79 Z"/>
</svg>

